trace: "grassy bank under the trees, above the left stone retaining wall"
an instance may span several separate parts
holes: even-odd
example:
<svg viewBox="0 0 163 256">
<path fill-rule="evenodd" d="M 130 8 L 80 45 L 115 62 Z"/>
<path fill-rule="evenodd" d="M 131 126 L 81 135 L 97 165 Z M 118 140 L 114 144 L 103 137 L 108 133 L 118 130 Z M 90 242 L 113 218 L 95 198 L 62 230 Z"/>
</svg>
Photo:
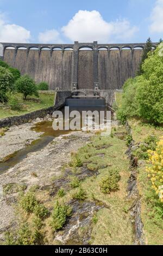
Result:
<svg viewBox="0 0 163 256">
<path fill-rule="evenodd" d="M 20 94 L 18 94 L 20 96 Z M 27 101 L 23 101 L 20 110 L 8 109 L 8 106 L 0 107 L 0 119 L 10 116 L 20 116 L 39 109 L 46 109 L 54 105 L 54 94 L 40 94 L 39 98 L 28 96 Z"/>
</svg>

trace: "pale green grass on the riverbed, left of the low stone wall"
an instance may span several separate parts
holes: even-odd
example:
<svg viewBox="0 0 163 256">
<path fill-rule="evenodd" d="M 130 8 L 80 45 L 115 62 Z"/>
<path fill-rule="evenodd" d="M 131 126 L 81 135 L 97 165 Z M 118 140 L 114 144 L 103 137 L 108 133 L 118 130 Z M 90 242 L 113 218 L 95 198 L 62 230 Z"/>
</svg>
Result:
<svg viewBox="0 0 163 256">
<path fill-rule="evenodd" d="M 123 131 L 125 131 L 124 128 L 117 129 L 117 132 Z M 104 208 L 99 210 L 92 219 L 91 245 L 131 245 L 133 243 L 133 225 L 130 213 L 124 210 L 129 209 L 133 203 L 126 198 L 127 181 L 130 176 L 129 159 L 125 154 L 127 146 L 126 141 L 114 136 L 114 131 L 112 134 L 113 138 L 94 136 L 91 143 L 80 148 L 76 154 L 83 165 L 86 165 L 87 162 L 98 165 L 99 175 L 80 181 L 82 189 L 86 192 L 86 198 L 84 197 L 83 200 L 96 201 L 97 204 L 104 205 Z M 103 158 L 101 154 L 104 154 Z M 119 188 L 116 192 L 104 194 L 99 183 L 103 177 L 115 169 L 121 176 L 121 180 L 118 182 Z M 64 197 L 58 199 L 59 203 L 67 204 L 74 198 L 74 195 L 80 194 L 79 190 L 79 188 L 70 188 Z M 53 203 L 48 207 L 54 204 L 56 198 L 53 198 Z"/>
</svg>

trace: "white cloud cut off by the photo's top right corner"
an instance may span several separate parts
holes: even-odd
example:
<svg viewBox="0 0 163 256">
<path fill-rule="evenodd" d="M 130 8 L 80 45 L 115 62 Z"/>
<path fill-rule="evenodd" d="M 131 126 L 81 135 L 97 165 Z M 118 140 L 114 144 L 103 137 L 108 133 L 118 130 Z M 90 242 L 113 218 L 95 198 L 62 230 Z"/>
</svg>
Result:
<svg viewBox="0 0 163 256">
<path fill-rule="evenodd" d="M 157 0 L 151 14 L 151 33 L 163 33 L 163 0 Z"/>
</svg>

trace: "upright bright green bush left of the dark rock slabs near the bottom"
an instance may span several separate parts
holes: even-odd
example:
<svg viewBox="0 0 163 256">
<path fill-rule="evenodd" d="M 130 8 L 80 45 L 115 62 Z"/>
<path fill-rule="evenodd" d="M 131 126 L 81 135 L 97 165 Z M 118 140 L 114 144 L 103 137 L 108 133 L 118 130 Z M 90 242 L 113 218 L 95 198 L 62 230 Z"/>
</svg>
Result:
<svg viewBox="0 0 163 256">
<path fill-rule="evenodd" d="M 70 206 L 67 205 L 60 205 L 57 201 L 56 205 L 54 206 L 53 214 L 52 214 L 52 222 L 51 227 L 53 231 L 60 230 L 64 227 L 66 223 L 67 217 L 70 217 L 72 214 L 72 209 Z"/>
</svg>

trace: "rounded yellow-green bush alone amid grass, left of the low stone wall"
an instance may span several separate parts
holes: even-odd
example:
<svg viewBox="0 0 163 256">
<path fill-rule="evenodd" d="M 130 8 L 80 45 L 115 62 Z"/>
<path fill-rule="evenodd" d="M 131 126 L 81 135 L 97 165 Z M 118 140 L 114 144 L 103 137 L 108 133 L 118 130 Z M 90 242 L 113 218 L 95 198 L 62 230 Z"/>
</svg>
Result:
<svg viewBox="0 0 163 256">
<path fill-rule="evenodd" d="M 110 170 L 109 174 L 104 176 L 99 182 L 99 187 L 104 194 L 109 194 L 110 192 L 115 192 L 118 190 L 118 182 L 121 176 L 118 171 Z"/>
</svg>

